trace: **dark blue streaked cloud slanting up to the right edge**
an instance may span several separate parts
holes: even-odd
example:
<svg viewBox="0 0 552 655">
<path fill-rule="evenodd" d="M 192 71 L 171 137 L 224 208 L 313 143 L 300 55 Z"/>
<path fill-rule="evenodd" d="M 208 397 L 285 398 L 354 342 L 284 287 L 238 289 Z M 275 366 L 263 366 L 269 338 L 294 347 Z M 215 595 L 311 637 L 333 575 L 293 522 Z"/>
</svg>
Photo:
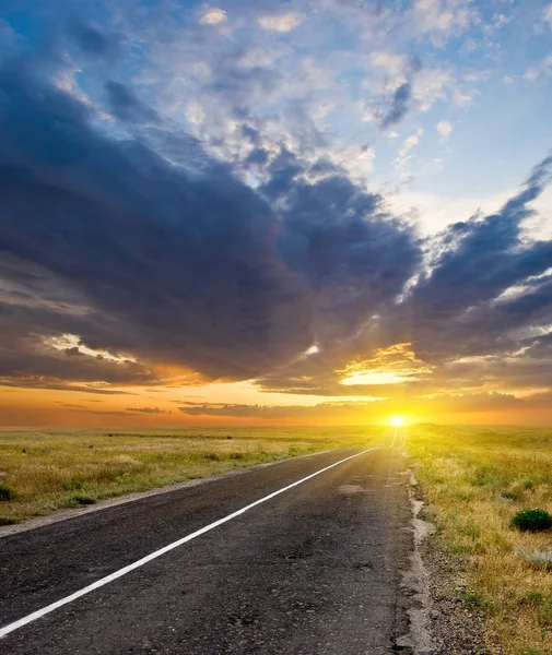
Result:
<svg viewBox="0 0 552 655">
<path fill-rule="evenodd" d="M 398 312 L 420 349 L 441 358 L 492 354 L 514 346 L 516 329 L 552 322 L 552 285 L 540 277 L 552 266 L 552 241 L 527 242 L 521 234 L 529 203 L 550 182 L 551 171 L 552 156 L 500 212 L 439 236 L 430 271 Z M 524 291 L 501 298 L 515 286 Z"/>
</svg>

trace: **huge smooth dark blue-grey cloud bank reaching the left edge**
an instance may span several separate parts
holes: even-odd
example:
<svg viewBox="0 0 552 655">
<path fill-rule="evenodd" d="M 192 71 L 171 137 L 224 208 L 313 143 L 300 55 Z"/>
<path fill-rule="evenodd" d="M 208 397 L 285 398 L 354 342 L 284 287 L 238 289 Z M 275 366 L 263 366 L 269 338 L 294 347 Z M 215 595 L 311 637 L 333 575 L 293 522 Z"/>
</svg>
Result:
<svg viewBox="0 0 552 655">
<path fill-rule="evenodd" d="M 188 174 L 106 138 L 86 106 L 38 87 L 0 75 L 0 245 L 87 307 L 86 320 L 71 308 L 46 320 L 211 378 L 250 378 L 310 345 L 308 283 L 281 258 L 266 202 L 207 157 Z"/>
</svg>

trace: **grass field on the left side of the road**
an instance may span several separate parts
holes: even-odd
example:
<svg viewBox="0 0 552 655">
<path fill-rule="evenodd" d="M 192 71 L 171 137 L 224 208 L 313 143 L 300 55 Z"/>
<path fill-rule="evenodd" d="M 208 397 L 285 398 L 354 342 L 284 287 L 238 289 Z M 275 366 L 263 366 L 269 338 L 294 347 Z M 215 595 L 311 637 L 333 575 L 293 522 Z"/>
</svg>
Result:
<svg viewBox="0 0 552 655">
<path fill-rule="evenodd" d="M 385 428 L 0 431 L 0 525 L 331 448 Z"/>
</svg>

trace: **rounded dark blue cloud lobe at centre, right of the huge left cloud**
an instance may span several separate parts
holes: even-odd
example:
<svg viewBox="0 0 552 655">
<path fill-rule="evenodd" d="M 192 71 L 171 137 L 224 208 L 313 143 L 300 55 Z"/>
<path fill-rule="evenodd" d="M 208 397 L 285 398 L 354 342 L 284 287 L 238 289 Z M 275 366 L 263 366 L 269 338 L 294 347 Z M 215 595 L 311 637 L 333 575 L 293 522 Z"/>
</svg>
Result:
<svg viewBox="0 0 552 655">
<path fill-rule="evenodd" d="M 334 347 L 392 306 L 421 264 L 411 230 L 381 211 L 377 194 L 344 176 L 290 187 L 286 257 L 316 296 L 316 343 Z"/>
</svg>

